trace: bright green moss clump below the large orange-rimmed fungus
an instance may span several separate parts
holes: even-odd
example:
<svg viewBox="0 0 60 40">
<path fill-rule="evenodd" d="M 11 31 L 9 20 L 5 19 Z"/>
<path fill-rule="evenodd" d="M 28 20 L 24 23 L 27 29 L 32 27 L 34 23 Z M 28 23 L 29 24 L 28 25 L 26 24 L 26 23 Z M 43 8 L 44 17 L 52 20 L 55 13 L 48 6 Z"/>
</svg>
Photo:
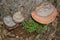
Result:
<svg viewBox="0 0 60 40">
<path fill-rule="evenodd" d="M 36 31 L 36 32 L 44 31 L 46 29 L 46 27 L 47 27 L 47 25 L 37 23 L 32 18 L 30 18 L 29 21 L 23 22 L 23 28 L 30 33 L 34 32 L 34 31 Z"/>
</svg>

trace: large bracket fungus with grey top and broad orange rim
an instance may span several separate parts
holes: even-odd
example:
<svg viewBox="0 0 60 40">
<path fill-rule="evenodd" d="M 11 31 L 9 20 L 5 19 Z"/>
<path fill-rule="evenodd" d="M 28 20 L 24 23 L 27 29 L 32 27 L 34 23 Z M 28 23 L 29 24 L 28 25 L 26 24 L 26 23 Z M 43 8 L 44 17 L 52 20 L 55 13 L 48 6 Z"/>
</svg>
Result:
<svg viewBox="0 0 60 40">
<path fill-rule="evenodd" d="M 42 24 L 49 24 L 53 22 L 57 14 L 57 9 L 48 2 L 42 3 L 31 12 L 32 18 Z"/>
</svg>

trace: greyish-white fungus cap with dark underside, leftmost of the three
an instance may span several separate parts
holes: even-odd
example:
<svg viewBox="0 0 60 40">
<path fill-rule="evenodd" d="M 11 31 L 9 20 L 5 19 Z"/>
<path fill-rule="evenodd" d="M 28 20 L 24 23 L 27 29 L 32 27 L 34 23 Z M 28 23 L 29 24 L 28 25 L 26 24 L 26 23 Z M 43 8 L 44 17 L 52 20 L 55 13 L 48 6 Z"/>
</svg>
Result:
<svg viewBox="0 0 60 40">
<path fill-rule="evenodd" d="M 16 25 L 16 23 L 13 21 L 12 17 L 7 15 L 3 18 L 3 21 L 5 23 L 6 26 L 8 27 L 13 27 Z"/>
</svg>

